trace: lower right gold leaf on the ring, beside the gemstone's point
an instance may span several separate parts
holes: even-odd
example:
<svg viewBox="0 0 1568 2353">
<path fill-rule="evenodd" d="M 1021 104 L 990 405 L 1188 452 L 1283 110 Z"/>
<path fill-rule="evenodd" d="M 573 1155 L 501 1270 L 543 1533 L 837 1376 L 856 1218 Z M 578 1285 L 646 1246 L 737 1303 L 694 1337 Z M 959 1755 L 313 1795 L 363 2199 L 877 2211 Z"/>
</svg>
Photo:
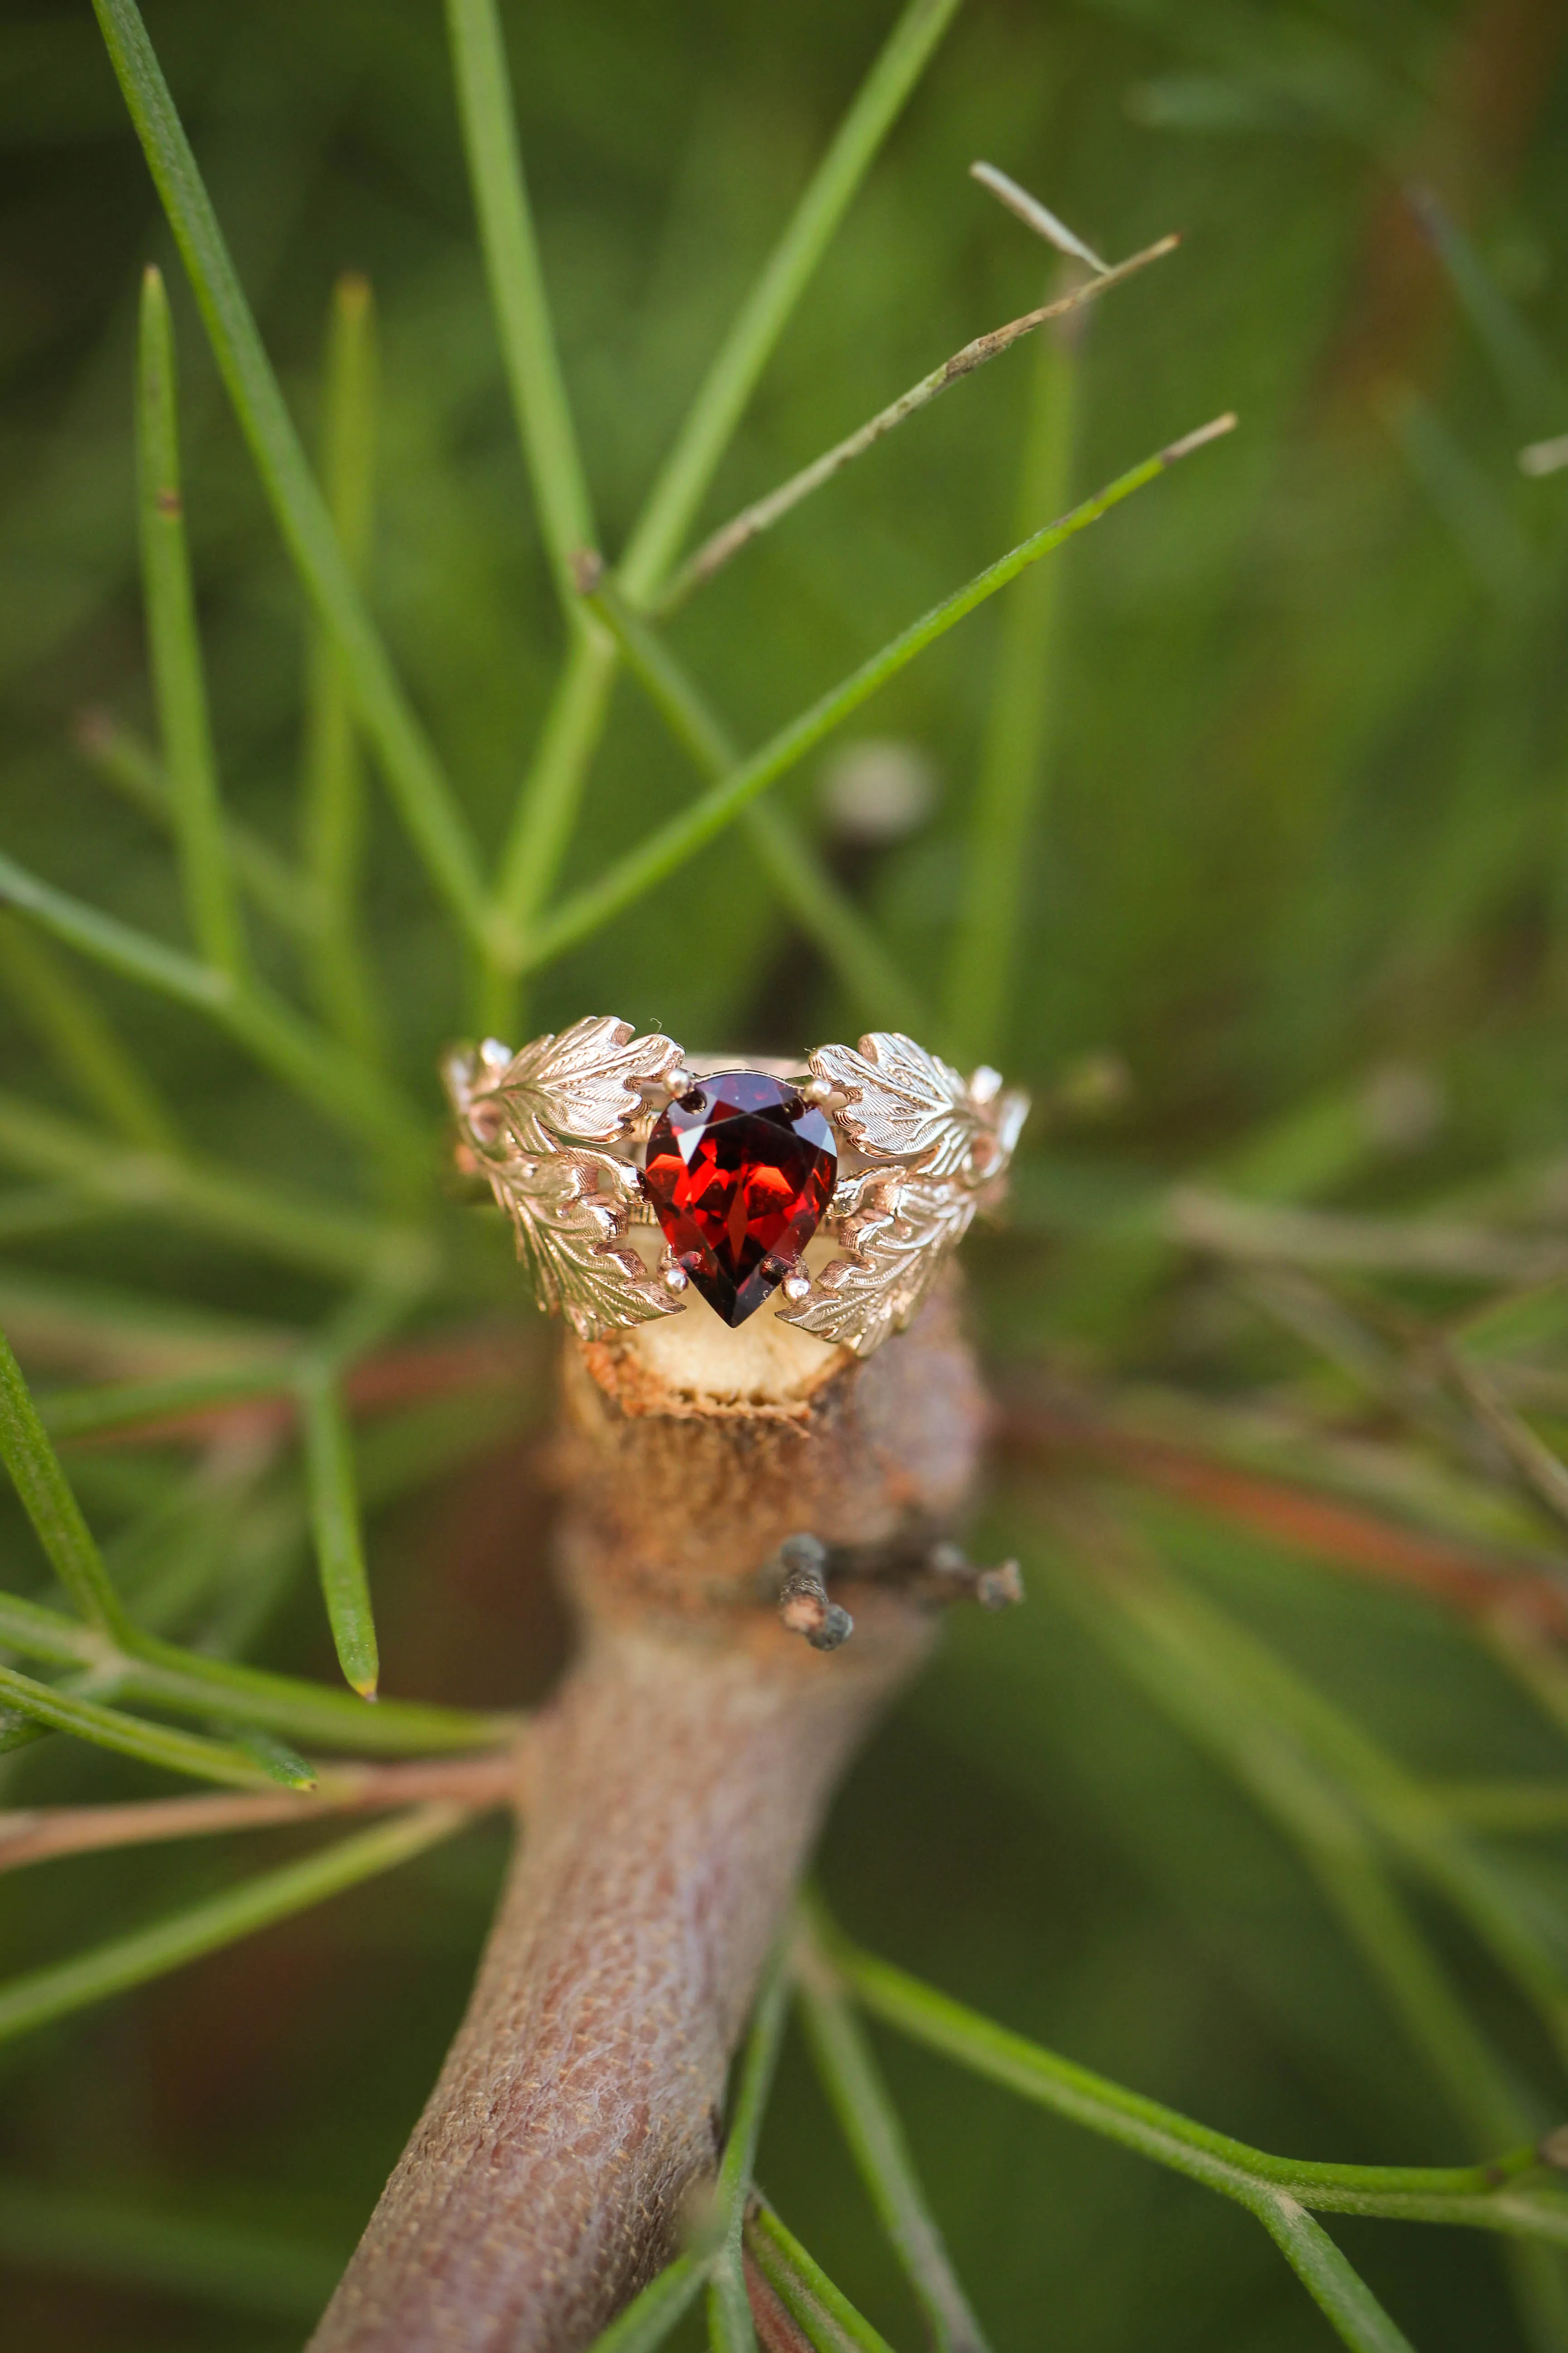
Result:
<svg viewBox="0 0 1568 2353">
<path fill-rule="evenodd" d="M 976 1195 L 964 1186 L 884 1174 L 882 1186 L 863 1188 L 858 1214 L 839 1226 L 849 1257 L 835 1259 L 811 1297 L 780 1308 L 778 1320 L 870 1355 L 910 1322 L 973 1214 Z"/>
</svg>

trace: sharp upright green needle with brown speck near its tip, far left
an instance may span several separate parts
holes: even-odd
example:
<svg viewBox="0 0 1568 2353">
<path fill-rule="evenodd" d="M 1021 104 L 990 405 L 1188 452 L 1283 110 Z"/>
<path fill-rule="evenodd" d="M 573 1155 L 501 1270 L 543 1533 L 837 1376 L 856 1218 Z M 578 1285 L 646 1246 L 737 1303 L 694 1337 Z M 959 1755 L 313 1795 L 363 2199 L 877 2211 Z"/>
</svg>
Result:
<svg viewBox="0 0 1568 2353">
<path fill-rule="evenodd" d="M 244 929 L 228 864 L 202 642 L 195 628 L 190 553 L 186 548 L 174 327 L 162 278 L 150 264 L 141 280 L 136 353 L 136 504 L 153 699 L 169 779 L 186 918 L 202 958 L 219 972 L 240 974 L 247 962 Z"/>
</svg>

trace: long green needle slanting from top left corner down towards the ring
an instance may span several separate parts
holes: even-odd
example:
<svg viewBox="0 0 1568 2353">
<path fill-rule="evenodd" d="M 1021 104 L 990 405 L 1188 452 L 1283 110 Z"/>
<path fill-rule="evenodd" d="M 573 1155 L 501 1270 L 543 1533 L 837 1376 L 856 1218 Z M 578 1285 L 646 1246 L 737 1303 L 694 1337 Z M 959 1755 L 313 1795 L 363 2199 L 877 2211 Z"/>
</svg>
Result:
<svg viewBox="0 0 1568 2353">
<path fill-rule="evenodd" d="M 482 941 L 489 911 L 468 826 L 343 560 L 141 14 L 134 0 L 94 0 L 94 12 L 294 567 L 430 880 Z"/>
</svg>

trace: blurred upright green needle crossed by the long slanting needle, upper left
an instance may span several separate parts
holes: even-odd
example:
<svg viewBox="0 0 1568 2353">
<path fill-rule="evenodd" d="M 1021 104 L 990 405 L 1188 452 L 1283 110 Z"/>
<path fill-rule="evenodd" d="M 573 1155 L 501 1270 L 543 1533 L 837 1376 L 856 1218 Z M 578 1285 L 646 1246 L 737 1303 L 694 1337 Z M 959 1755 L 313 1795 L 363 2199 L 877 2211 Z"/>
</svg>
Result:
<svg viewBox="0 0 1568 2353">
<path fill-rule="evenodd" d="M 376 489 L 376 306 L 346 271 L 331 289 L 322 372 L 322 489 L 343 562 L 364 586 Z M 364 1061 L 386 1059 L 360 925 L 364 774 L 343 656 L 317 626 L 306 678 L 301 864 L 315 901 L 310 974 L 322 1021 Z"/>
</svg>

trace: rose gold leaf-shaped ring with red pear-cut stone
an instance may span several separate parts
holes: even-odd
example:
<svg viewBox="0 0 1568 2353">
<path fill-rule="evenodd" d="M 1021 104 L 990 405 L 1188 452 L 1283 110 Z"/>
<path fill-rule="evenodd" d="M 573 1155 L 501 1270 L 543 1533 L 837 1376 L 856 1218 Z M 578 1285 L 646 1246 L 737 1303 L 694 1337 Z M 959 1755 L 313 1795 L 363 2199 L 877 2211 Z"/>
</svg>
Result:
<svg viewBox="0 0 1568 2353">
<path fill-rule="evenodd" d="M 599 1014 L 520 1052 L 458 1047 L 442 1075 L 458 1167 L 489 1181 L 541 1308 L 583 1339 L 677 1315 L 691 1289 L 733 1327 L 783 1289 L 783 1322 L 856 1355 L 910 1322 L 999 1202 L 1030 1108 L 898 1031 L 804 1066 L 726 1064 Z M 663 1228 L 658 1266 L 632 1226 Z M 839 1257 L 811 1273 L 818 1231 Z"/>
</svg>

